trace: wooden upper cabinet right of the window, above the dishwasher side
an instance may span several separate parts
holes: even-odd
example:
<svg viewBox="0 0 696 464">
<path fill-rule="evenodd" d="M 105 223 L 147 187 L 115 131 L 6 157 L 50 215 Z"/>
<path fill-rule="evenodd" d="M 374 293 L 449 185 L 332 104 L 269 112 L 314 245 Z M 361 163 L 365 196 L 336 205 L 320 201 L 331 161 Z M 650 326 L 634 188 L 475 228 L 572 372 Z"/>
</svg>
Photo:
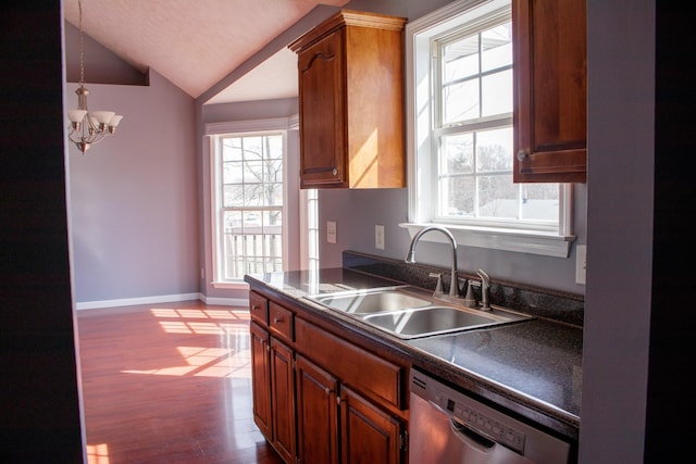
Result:
<svg viewBox="0 0 696 464">
<path fill-rule="evenodd" d="M 515 183 L 585 183 L 585 0 L 512 0 Z"/>
</svg>

